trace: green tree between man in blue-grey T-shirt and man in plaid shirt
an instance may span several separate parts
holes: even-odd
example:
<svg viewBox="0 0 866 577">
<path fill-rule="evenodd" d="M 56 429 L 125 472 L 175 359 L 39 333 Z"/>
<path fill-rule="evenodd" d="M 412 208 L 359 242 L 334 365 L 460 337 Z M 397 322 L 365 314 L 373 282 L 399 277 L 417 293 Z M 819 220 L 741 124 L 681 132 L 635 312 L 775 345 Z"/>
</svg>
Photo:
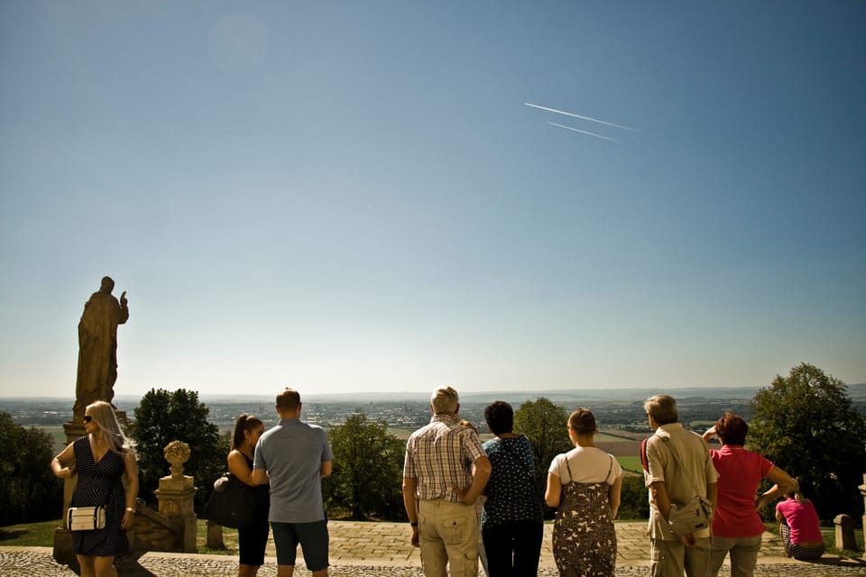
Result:
<svg viewBox="0 0 866 577">
<path fill-rule="evenodd" d="M 333 471 L 322 486 L 327 507 L 350 511 L 355 519 L 406 518 L 401 489 L 406 444 L 388 434 L 387 424 L 355 412 L 327 438 L 334 452 Z"/>
</svg>

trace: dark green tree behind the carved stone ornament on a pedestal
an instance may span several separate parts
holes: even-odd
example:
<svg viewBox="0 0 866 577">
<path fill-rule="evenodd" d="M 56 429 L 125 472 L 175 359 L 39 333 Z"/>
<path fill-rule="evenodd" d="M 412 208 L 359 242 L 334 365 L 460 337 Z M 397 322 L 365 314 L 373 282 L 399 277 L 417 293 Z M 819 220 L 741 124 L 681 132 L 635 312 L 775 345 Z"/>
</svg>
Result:
<svg viewBox="0 0 866 577">
<path fill-rule="evenodd" d="M 200 511 L 213 490 L 213 481 L 226 471 L 230 442 L 219 435 L 216 425 L 207 420 L 210 409 L 198 401 L 198 392 L 177 389 L 151 389 L 135 408 L 133 437 L 137 442 L 139 497 L 156 502 L 153 491 L 161 477 L 170 474 L 163 451 L 171 441 L 189 444 L 189 461 L 183 473 L 195 478 L 198 493 L 196 508 Z"/>
</svg>

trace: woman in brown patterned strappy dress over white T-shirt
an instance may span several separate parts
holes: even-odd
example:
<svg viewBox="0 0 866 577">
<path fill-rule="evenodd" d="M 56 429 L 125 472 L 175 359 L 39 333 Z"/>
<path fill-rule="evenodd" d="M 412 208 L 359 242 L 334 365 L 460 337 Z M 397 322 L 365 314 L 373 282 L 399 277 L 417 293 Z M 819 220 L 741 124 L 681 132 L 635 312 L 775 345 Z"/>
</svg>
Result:
<svg viewBox="0 0 866 577">
<path fill-rule="evenodd" d="M 561 577 L 613 577 L 620 508 L 622 467 L 612 454 L 597 448 L 598 429 L 588 408 L 568 417 L 568 436 L 575 448 L 558 454 L 548 469 L 544 499 L 557 509 L 553 557 Z"/>
</svg>

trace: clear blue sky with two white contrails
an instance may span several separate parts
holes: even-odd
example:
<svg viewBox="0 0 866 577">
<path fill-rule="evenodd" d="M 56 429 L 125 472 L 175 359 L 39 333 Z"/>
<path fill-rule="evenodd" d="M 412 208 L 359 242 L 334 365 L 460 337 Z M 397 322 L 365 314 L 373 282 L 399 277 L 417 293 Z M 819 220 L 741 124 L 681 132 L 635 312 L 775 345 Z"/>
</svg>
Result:
<svg viewBox="0 0 866 577">
<path fill-rule="evenodd" d="M 0 396 L 866 382 L 863 23 L 0 1 Z"/>
</svg>

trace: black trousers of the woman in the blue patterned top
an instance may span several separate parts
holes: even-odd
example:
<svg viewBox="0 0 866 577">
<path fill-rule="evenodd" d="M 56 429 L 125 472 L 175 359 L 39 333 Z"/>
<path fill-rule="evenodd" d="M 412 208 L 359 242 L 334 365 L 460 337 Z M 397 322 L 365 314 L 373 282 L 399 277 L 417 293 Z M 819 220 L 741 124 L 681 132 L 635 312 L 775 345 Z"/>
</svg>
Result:
<svg viewBox="0 0 866 577">
<path fill-rule="evenodd" d="M 487 553 L 487 577 L 536 577 L 544 524 L 507 521 L 481 531 Z"/>
</svg>

